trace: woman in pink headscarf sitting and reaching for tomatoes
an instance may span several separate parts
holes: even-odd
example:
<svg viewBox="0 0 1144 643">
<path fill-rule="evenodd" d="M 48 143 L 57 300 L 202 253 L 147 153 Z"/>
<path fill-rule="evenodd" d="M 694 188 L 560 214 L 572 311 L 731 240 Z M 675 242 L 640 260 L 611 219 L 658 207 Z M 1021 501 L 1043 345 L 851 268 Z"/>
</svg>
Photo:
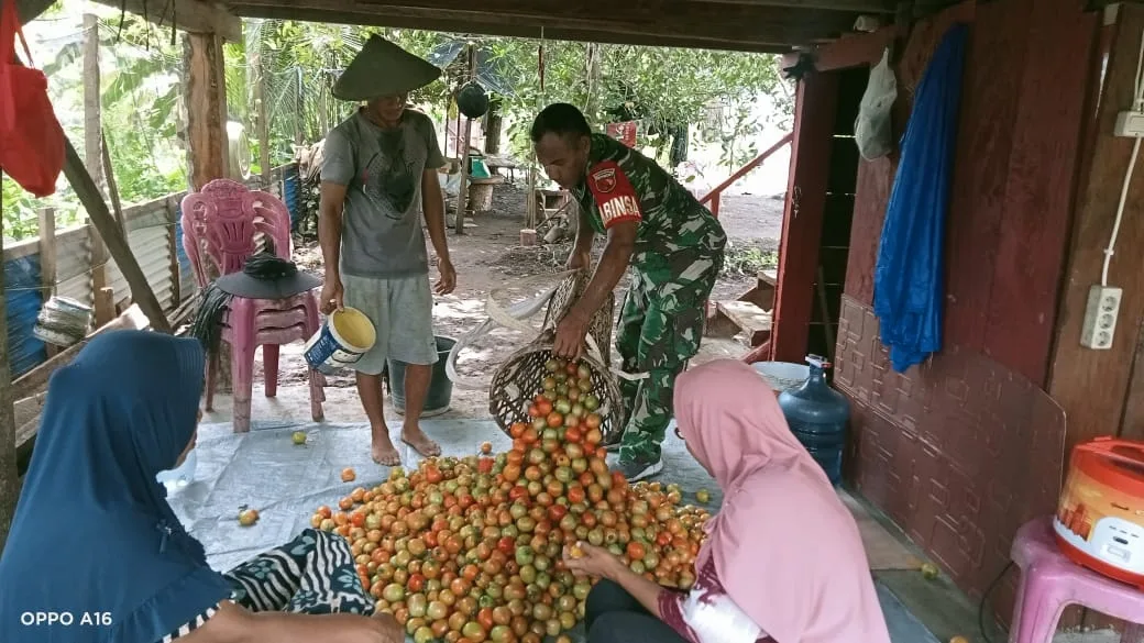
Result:
<svg viewBox="0 0 1144 643">
<path fill-rule="evenodd" d="M 676 434 L 723 490 L 689 592 L 656 585 L 607 550 L 565 558 L 601 578 L 589 643 L 889 643 L 866 553 L 826 474 L 748 365 L 680 375 Z"/>
</svg>

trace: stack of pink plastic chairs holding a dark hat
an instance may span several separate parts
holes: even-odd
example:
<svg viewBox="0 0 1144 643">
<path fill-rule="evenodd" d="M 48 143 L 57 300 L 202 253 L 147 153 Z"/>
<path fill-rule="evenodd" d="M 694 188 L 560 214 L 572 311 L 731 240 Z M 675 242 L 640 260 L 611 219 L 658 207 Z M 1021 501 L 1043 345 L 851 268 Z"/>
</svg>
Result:
<svg viewBox="0 0 1144 643">
<path fill-rule="evenodd" d="M 212 279 L 243 270 L 257 249 L 261 232 L 275 254 L 291 259 L 289 211 L 273 195 L 219 178 L 183 198 L 183 247 L 200 288 Z M 213 275 L 213 276 L 212 276 Z M 222 339 L 231 348 L 235 432 L 251 430 L 254 351 L 262 347 L 267 397 L 278 394 L 278 347 L 307 341 L 318 332 L 318 300 L 302 293 L 284 300 L 232 297 Z M 219 360 L 207 368 L 206 410 L 213 411 Z M 321 373 L 310 370 L 310 414 L 320 422 L 326 400 Z"/>
</svg>

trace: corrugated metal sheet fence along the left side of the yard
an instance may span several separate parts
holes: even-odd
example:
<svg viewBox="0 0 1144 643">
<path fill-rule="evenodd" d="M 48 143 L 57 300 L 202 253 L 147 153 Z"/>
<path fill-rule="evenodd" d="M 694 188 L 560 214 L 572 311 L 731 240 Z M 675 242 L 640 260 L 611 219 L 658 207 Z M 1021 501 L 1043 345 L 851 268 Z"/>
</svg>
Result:
<svg viewBox="0 0 1144 643">
<path fill-rule="evenodd" d="M 296 166 L 287 165 L 271 173 L 270 193 L 283 199 L 297 221 L 301 186 Z M 252 189 L 263 189 L 261 177 L 247 181 Z M 127 243 L 140 268 L 146 275 L 159 303 L 173 311 L 194 294 L 194 276 L 183 249 L 183 227 L 180 203 L 186 192 L 169 195 L 124 209 Z M 284 198 L 285 195 L 285 198 Z M 8 322 L 8 347 L 11 351 L 13 379 L 27 373 L 47 359 L 43 342 L 35 339 L 32 328 L 43 305 L 47 288 L 40 270 L 39 239 L 25 239 L 5 248 L 3 295 Z M 56 294 L 92 305 L 92 231 L 87 224 L 57 230 Z M 114 289 L 116 304 L 130 300 L 127 281 L 109 260 L 106 284 Z"/>
</svg>

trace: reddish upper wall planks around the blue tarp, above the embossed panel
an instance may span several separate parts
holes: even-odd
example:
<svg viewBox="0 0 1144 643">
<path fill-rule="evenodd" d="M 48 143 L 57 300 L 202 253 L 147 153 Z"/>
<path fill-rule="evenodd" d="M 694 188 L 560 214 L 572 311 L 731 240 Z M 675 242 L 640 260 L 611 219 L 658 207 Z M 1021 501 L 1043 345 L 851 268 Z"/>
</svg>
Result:
<svg viewBox="0 0 1144 643">
<path fill-rule="evenodd" d="M 916 25 L 898 71 L 895 121 L 901 132 L 940 37 L 955 21 L 972 22 L 947 224 L 945 341 L 1041 383 L 1099 22 L 1085 6 L 1042 0 L 1034 11 L 1033 0 L 959 5 Z M 835 58 L 843 62 L 853 64 Z M 867 304 L 896 170 L 896 158 L 863 162 L 858 170 L 845 292 Z"/>
</svg>

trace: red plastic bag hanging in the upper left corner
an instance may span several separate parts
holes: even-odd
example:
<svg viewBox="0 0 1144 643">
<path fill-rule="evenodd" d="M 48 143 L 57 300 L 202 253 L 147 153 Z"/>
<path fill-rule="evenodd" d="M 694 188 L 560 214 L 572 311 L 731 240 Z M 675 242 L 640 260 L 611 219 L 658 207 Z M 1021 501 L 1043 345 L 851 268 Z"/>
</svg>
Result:
<svg viewBox="0 0 1144 643">
<path fill-rule="evenodd" d="M 64 168 L 64 130 L 48 100 L 47 77 L 16 59 L 17 35 L 31 64 L 16 0 L 0 0 L 0 170 L 47 197 Z"/>
</svg>

